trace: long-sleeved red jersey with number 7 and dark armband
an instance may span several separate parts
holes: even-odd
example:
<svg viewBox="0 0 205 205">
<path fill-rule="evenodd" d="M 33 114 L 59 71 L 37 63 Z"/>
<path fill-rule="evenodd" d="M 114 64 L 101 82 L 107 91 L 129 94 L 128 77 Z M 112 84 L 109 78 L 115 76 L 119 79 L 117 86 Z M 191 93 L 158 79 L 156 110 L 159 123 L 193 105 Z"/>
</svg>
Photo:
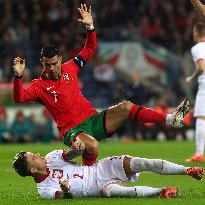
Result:
<svg viewBox="0 0 205 205">
<path fill-rule="evenodd" d="M 85 47 L 70 61 L 62 64 L 59 80 L 48 80 L 45 73 L 23 87 L 23 78 L 14 79 L 14 100 L 18 103 L 39 101 L 48 109 L 63 138 L 72 127 L 79 125 L 97 111 L 82 95 L 78 72 L 94 54 L 97 47 L 95 31 L 88 31 Z"/>
</svg>

